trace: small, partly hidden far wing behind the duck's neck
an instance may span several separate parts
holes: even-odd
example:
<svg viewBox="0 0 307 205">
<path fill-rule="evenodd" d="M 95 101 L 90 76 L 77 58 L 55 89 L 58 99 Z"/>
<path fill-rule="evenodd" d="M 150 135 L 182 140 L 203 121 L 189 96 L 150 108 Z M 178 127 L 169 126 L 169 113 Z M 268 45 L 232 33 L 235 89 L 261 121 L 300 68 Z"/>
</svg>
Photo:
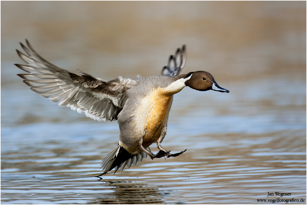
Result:
<svg viewBox="0 0 307 205">
<path fill-rule="evenodd" d="M 175 55 L 170 55 L 168 63 L 163 67 L 161 74 L 166 76 L 178 76 L 187 61 L 186 45 L 178 48 Z"/>
</svg>

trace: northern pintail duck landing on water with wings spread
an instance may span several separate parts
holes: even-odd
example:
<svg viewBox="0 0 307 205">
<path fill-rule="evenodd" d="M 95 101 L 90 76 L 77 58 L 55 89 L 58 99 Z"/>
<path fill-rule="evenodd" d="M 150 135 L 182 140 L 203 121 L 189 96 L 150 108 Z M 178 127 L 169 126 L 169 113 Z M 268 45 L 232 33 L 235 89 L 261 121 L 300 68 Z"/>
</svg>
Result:
<svg viewBox="0 0 307 205">
<path fill-rule="evenodd" d="M 215 82 L 206 71 L 196 71 L 179 75 L 185 65 L 187 54 L 185 45 L 178 48 L 168 59 L 161 76 L 141 77 L 136 80 L 121 76 L 110 81 L 94 77 L 80 70 L 79 74 L 53 65 L 34 51 L 29 41 L 20 43 L 26 54 L 17 50 L 26 65 L 15 64 L 28 72 L 18 74 L 23 82 L 36 93 L 70 107 L 98 121 L 117 120 L 120 128 L 118 145 L 102 160 L 101 175 L 115 168 L 123 170 L 140 162 L 146 156 L 151 159 L 175 157 L 186 150 L 171 154 L 162 148 L 166 135 L 167 120 L 173 95 L 189 86 L 199 91 L 216 90 L 229 93 Z M 149 146 L 156 143 L 159 148 L 153 154 Z M 114 172 L 114 173 L 115 173 Z M 99 175 L 99 176 L 101 176 Z"/>
</svg>

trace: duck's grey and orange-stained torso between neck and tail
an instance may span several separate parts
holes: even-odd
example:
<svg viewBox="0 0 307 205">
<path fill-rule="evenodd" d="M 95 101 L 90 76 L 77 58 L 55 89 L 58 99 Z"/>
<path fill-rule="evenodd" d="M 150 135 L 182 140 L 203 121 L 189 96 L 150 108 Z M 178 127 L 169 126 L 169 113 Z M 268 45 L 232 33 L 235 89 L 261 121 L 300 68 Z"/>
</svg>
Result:
<svg viewBox="0 0 307 205">
<path fill-rule="evenodd" d="M 173 94 L 165 88 L 132 89 L 118 116 L 120 144 L 130 153 L 139 153 L 139 144 L 146 148 L 156 142 L 167 124 Z"/>
</svg>

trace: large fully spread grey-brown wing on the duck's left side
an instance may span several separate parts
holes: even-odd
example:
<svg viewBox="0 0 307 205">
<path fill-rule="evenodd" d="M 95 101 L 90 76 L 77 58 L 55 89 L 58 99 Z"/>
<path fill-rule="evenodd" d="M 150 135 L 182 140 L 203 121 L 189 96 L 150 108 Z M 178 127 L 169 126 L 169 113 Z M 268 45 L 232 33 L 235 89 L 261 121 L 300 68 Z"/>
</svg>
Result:
<svg viewBox="0 0 307 205">
<path fill-rule="evenodd" d="M 77 112 L 98 121 L 116 120 L 126 101 L 126 91 L 136 85 L 136 81 L 121 76 L 104 81 L 80 70 L 79 74 L 53 65 L 34 51 L 29 41 L 20 43 L 26 54 L 17 50 L 18 56 L 27 65 L 15 64 L 28 72 L 18 74 L 24 83 L 36 93 L 70 107 Z"/>
</svg>

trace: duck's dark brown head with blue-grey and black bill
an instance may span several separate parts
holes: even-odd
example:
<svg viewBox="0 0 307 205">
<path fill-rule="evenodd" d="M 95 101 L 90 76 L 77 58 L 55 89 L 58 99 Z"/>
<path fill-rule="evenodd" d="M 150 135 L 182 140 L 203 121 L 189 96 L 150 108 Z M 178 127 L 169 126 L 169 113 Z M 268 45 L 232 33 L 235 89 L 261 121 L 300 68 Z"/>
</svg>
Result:
<svg viewBox="0 0 307 205">
<path fill-rule="evenodd" d="M 218 86 L 213 76 L 206 71 L 191 72 L 191 73 L 188 73 L 186 76 L 187 77 L 185 78 L 186 79 L 189 78 L 189 79 L 184 82 L 185 85 L 195 90 L 200 90 L 200 91 L 215 90 L 219 92 L 229 93 L 229 90 L 226 90 Z"/>
</svg>

